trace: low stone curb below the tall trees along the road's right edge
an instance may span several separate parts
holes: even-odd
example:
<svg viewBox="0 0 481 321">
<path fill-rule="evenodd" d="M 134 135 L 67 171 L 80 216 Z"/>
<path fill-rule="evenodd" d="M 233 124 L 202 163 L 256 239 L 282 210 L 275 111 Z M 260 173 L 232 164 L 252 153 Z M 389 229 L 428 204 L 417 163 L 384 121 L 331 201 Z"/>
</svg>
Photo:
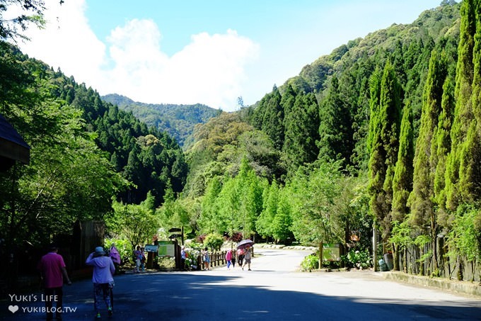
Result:
<svg viewBox="0 0 481 321">
<path fill-rule="evenodd" d="M 415 276 L 398 271 L 381 272 L 381 276 L 387 280 L 440 288 L 454 293 L 475 295 L 481 298 L 481 286 L 475 282 L 449 280 L 447 278 L 429 278 L 428 276 Z"/>
</svg>

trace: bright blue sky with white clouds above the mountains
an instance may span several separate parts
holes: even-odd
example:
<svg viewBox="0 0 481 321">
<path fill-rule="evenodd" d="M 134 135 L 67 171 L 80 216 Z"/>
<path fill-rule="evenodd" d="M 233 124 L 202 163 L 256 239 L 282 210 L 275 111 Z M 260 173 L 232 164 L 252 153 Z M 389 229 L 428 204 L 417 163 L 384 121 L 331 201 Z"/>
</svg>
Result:
<svg viewBox="0 0 481 321">
<path fill-rule="evenodd" d="M 101 95 L 204 103 L 260 100 L 335 47 L 441 0 L 46 0 L 45 30 L 23 52 Z"/>
</svg>

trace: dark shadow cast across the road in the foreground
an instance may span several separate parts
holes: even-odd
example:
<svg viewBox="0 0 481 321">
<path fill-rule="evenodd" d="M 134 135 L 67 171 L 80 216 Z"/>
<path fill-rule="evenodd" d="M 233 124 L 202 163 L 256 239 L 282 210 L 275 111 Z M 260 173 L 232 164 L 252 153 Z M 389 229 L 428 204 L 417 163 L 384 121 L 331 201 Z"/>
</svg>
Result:
<svg viewBox="0 0 481 321">
<path fill-rule="evenodd" d="M 266 271 L 268 272 L 268 271 Z M 211 274 L 207 274 L 211 273 Z M 103 320 L 481 320 L 479 302 L 413 301 L 327 296 L 256 285 L 259 274 L 215 272 L 130 274 L 115 278 L 115 313 Z M 256 276 L 257 275 L 257 276 Z M 281 285 L 283 279 L 277 281 Z M 64 288 L 64 320 L 93 319 L 93 288 L 80 281 Z M 40 293 L 31 293 L 40 295 Z M 44 320 L 41 302 L 2 303 L 2 320 Z M 9 305 L 18 305 L 12 313 Z M 473 306 L 474 305 L 474 306 Z"/>
</svg>

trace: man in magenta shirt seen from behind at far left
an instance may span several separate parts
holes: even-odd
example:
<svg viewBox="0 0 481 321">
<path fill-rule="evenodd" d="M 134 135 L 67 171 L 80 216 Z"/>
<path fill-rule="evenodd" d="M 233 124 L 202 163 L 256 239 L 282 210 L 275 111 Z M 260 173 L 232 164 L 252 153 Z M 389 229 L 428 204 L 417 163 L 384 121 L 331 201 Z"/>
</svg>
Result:
<svg viewBox="0 0 481 321">
<path fill-rule="evenodd" d="M 40 271 L 40 278 L 45 290 L 45 310 L 47 312 L 47 320 L 62 320 L 62 296 L 64 295 L 63 286 L 64 280 L 70 286 L 71 281 L 66 273 L 64 258 L 57 254 L 57 246 L 50 245 L 49 252 L 45 254 L 40 262 L 38 262 L 37 269 Z M 53 302 L 57 302 L 57 306 L 53 308 Z"/>
</svg>

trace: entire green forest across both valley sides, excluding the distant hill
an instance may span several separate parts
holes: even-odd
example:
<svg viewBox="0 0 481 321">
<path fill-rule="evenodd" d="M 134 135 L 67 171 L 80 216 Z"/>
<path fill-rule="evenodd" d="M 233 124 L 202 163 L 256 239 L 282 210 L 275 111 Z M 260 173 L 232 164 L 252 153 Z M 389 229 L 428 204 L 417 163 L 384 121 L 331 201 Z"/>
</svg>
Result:
<svg viewBox="0 0 481 321">
<path fill-rule="evenodd" d="M 158 106 L 136 118 L 2 43 L 0 113 L 32 147 L 0 174 L 2 237 L 40 243 L 95 219 L 133 246 L 183 226 L 479 280 L 480 8 L 444 0 L 349 41 L 253 106 L 203 118 L 184 152 L 149 122 Z"/>
</svg>

